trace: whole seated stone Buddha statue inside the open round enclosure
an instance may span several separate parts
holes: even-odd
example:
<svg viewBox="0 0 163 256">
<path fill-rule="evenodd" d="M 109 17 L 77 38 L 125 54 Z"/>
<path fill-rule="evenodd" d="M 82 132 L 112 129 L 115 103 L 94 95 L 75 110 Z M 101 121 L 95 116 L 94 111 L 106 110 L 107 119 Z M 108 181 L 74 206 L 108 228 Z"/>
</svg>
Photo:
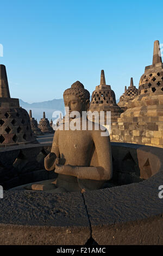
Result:
<svg viewBox="0 0 163 256">
<path fill-rule="evenodd" d="M 65 90 L 64 103 L 64 121 L 54 133 L 51 153 L 45 157 L 45 169 L 54 171 L 58 177 L 55 181 L 47 180 L 26 186 L 26 189 L 53 190 L 58 193 L 97 190 L 112 178 L 109 133 L 108 136 L 102 136 L 101 125 L 91 122 L 87 117 L 85 120 L 83 118 L 83 113 L 90 106 L 90 93 L 77 81 Z M 72 116 L 72 113 L 76 115 Z M 104 129 L 103 132 L 106 131 Z"/>
</svg>

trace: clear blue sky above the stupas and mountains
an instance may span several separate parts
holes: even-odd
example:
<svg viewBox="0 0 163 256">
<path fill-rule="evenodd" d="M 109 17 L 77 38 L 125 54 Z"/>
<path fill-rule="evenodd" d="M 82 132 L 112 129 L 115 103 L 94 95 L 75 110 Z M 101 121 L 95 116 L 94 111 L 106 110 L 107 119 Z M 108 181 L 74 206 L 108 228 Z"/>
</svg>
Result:
<svg viewBox="0 0 163 256">
<path fill-rule="evenodd" d="M 1 64 L 11 97 L 40 102 L 62 97 L 77 80 L 93 92 L 101 69 L 118 99 L 152 64 L 163 44 L 162 1 L 3 1 Z"/>
</svg>

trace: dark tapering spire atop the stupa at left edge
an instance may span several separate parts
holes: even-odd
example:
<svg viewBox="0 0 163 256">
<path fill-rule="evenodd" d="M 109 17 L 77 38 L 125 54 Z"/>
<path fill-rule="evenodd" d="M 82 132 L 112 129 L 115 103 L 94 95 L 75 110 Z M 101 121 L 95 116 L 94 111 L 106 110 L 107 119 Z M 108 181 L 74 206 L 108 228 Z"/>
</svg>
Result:
<svg viewBox="0 0 163 256">
<path fill-rule="evenodd" d="M 10 98 L 7 72 L 4 65 L 0 65 L 0 97 Z"/>
</svg>

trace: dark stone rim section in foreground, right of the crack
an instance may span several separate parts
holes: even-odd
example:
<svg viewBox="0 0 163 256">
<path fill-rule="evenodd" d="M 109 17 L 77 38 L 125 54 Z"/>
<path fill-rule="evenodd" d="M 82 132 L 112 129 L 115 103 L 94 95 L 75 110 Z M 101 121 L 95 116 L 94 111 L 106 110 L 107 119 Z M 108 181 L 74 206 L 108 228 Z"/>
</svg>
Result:
<svg viewBox="0 0 163 256">
<path fill-rule="evenodd" d="M 99 245 L 163 244 L 163 199 L 158 197 L 163 175 L 154 176 L 149 184 L 146 180 L 84 193 L 92 238 Z M 159 184 L 151 186 L 152 179 Z"/>
</svg>

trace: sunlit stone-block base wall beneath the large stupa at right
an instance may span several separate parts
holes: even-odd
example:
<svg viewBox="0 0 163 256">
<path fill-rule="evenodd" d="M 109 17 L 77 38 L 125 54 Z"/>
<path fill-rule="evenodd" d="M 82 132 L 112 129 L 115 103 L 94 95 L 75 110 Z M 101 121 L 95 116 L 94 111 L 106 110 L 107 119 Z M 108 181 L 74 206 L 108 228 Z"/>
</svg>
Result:
<svg viewBox="0 0 163 256">
<path fill-rule="evenodd" d="M 148 120 L 147 120 L 148 119 Z M 163 148 L 163 117 L 140 117 L 139 122 L 112 123 L 112 142 L 135 143 Z"/>
</svg>

